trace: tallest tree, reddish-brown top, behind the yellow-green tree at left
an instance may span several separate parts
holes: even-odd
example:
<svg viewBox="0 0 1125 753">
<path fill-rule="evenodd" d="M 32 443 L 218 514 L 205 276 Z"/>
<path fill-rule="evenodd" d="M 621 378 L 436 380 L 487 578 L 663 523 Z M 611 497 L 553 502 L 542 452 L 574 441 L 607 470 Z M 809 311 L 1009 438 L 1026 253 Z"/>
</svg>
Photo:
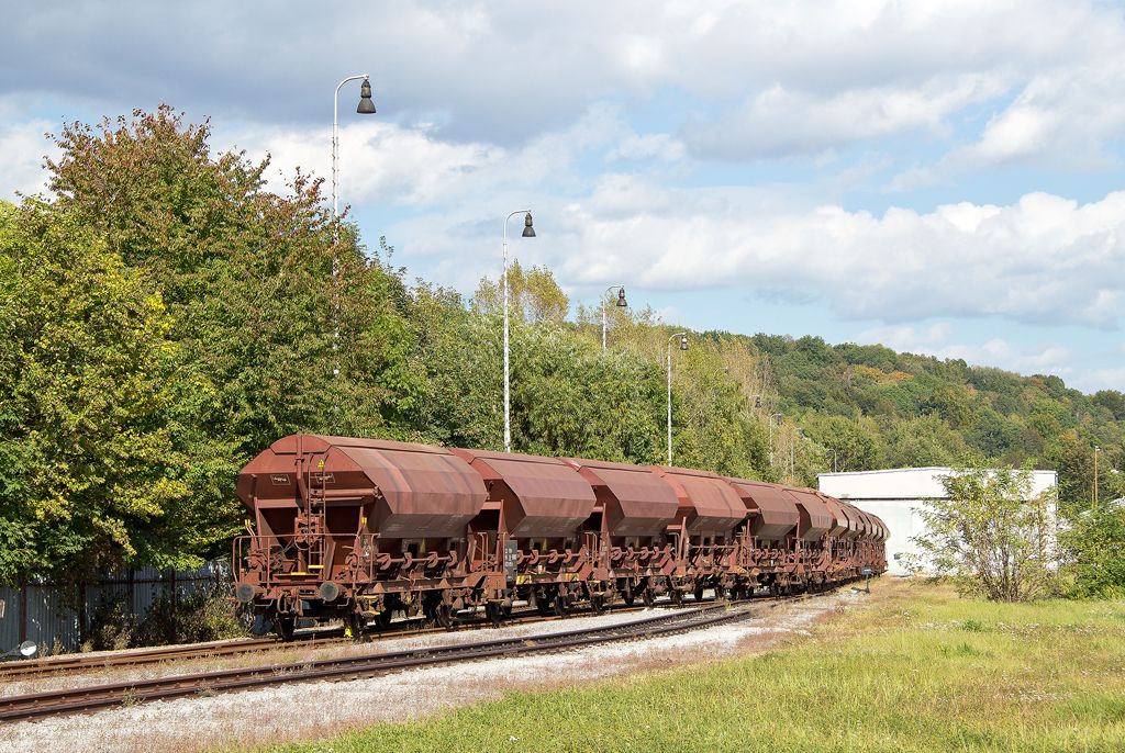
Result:
<svg viewBox="0 0 1125 753">
<path fill-rule="evenodd" d="M 122 405 L 144 417 L 148 433 L 107 434 L 99 452 L 136 454 L 134 434 L 159 437 L 164 445 L 144 451 L 160 481 L 153 493 L 164 496 L 114 523 L 107 541 L 117 551 L 84 557 L 90 565 L 183 566 L 226 550 L 242 518 L 234 477 L 253 454 L 296 430 L 395 434 L 387 421 L 405 420 L 418 400 L 410 339 L 399 336 L 411 332 L 400 273 L 378 254 L 367 257 L 353 229 L 334 223 L 320 181 L 297 173 L 285 196 L 268 191 L 268 162 L 213 154 L 208 138 L 207 124 L 184 125 L 168 107 L 132 120 L 69 124 L 56 139 L 61 156 L 47 163 L 54 198 L 29 199 L 9 220 L 40 245 L 55 243 L 55 253 L 78 254 L 73 243 L 83 244 L 82 253 L 99 254 L 90 279 L 105 267 L 125 280 L 107 289 L 159 308 L 143 332 L 150 339 L 133 336 L 154 353 L 137 355 L 137 373 L 117 380 L 133 390 Z M 75 228 L 73 243 L 57 241 Z M 47 253 L 29 244 L 16 250 L 21 257 Z M 45 278 L 39 294 L 69 296 L 69 284 Z M 87 316 L 117 323 L 110 303 L 96 299 Z M 45 325 L 68 321 L 69 309 L 42 312 L 54 317 Z M 114 335 L 107 325 L 106 336 Z M 122 357 L 133 359 L 132 341 L 120 337 Z M 145 387 L 130 387 L 126 374 Z M 35 436 L 35 419 L 14 421 Z M 91 511 L 117 503 L 96 464 L 70 463 L 65 453 L 42 457 L 58 464 L 51 473 L 74 475 Z M 94 546 L 70 518 L 51 524 L 54 535 L 76 542 L 70 551 Z"/>
</svg>

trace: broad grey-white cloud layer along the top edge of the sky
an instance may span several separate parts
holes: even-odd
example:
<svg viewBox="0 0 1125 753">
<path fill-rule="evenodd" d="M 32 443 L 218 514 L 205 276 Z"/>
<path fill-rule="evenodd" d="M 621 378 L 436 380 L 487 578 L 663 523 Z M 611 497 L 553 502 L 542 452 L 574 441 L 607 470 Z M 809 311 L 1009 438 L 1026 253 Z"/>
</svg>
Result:
<svg viewBox="0 0 1125 753">
<path fill-rule="evenodd" d="M 947 134 L 982 101 L 997 111 L 973 147 L 981 158 L 1060 145 L 1089 153 L 1125 118 L 1125 22 L 1113 3 L 342 0 L 325 13 L 295 2 L 133 0 L 106 13 L 75 0 L 16 3 L 9 16 L 0 46 L 22 64 L 0 71 L 0 96 L 32 89 L 72 101 L 80 76 L 83 94 L 111 111 L 170 99 L 307 124 L 324 118 L 342 74 L 368 70 L 380 117 L 505 146 L 559 130 L 597 101 L 666 96 L 681 99 L 655 99 L 665 111 L 696 116 L 691 143 L 724 155 Z M 997 99 L 1009 91 L 1010 103 Z"/>
</svg>

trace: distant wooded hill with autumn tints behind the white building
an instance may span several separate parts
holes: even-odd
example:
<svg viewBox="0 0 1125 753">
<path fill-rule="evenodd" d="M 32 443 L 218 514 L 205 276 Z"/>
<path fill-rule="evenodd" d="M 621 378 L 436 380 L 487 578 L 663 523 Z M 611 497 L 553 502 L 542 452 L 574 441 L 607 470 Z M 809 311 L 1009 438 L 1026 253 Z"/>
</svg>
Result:
<svg viewBox="0 0 1125 753">
<path fill-rule="evenodd" d="M 1058 376 L 1022 376 L 961 360 L 757 335 L 776 374 L 782 410 L 836 451 L 839 470 L 999 463 L 1055 469 L 1069 505 L 1092 496 L 1100 446 L 1102 499 L 1120 474 L 1125 396 L 1068 389 Z M 828 463 L 834 455 L 828 453 Z"/>
</svg>

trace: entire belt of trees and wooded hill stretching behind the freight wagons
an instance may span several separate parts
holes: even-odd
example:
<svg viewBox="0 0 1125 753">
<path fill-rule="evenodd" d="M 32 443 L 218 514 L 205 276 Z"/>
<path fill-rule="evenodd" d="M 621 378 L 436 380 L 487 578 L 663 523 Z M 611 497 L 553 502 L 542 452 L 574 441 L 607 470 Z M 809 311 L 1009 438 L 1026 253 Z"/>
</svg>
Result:
<svg viewBox="0 0 1125 753">
<path fill-rule="evenodd" d="M 169 108 L 72 124 L 51 192 L 0 202 L 0 582 L 188 566 L 242 527 L 237 470 L 294 432 L 503 446 L 500 288 L 411 284 L 321 181 L 213 153 Z M 335 272 L 333 271 L 335 270 Z M 511 272 L 513 445 L 816 483 L 1032 462 L 1122 493 L 1125 397 L 878 346 L 688 333 Z M 675 341 L 673 341 L 675 342 Z"/>
</svg>

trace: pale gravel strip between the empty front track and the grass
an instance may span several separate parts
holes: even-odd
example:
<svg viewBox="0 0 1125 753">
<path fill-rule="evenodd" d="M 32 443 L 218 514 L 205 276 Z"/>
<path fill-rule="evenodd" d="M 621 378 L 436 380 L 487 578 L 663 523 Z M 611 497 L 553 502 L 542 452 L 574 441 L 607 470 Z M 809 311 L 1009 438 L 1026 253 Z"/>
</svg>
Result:
<svg viewBox="0 0 1125 753">
<path fill-rule="evenodd" d="M 808 634 L 808 628 L 817 619 L 862 599 L 863 595 L 845 590 L 778 607 L 762 619 L 684 635 L 591 646 L 565 654 L 433 666 L 345 682 L 278 686 L 115 708 L 94 715 L 2 725 L 0 750 L 14 753 L 72 749 L 99 753 L 189 753 L 235 743 L 252 745 L 314 738 L 349 727 L 494 699 L 510 690 L 544 689 L 629 671 L 760 651 L 785 636 Z M 379 647 L 394 651 L 478 641 L 494 635 L 552 633 L 628 622 L 637 619 L 639 614 L 646 613 L 580 617 L 515 626 L 503 632 L 424 635 L 388 641 L 380 643 Z M 353 648 L 363 650 L 370 651 L 371 646 Z M 228 660 L 226 665 L 230 665 Z M 156 672 L 134 674 L 154 677 Z"/>
</svg>

